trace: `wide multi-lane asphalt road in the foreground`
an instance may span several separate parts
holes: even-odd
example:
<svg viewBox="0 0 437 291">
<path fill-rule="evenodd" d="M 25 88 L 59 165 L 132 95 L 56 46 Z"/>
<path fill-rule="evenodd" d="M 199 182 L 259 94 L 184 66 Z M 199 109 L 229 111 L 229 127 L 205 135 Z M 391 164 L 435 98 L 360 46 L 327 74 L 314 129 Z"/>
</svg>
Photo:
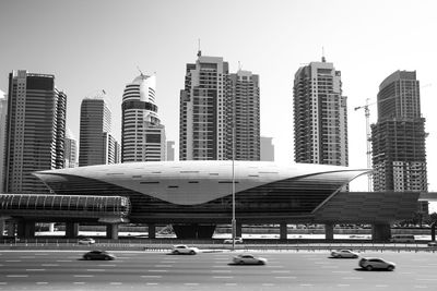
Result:
<svg viewBox="0 0 437 291">
<path fill-rule="evenodd" d="M 229 265 L 228 252 L 113 252 L 109 262 L 82 260 L 83 253 L 2 251 L 0 290 L 437 290 L 434 253 L 363 254 L 394 262 L 394 271 L 365 271 L 328 252 L 256 253 L 265 266 Z"/>
</svg>

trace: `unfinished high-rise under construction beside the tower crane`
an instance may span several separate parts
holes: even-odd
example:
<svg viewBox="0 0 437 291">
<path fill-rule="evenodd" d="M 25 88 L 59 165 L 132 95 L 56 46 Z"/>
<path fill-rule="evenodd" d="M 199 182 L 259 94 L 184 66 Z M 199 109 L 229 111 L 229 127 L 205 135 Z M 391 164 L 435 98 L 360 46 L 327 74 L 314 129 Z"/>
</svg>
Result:
<svg viewBox="0 0 437 291">
<path fill-rule="evenodd" d="M 375 191 L 427 191 L 425 119 L 416 72 L 397 71 L 379 86 L 371 124 Z M 427 203 L 420 210 L 427 213 Z"/>
</svg>

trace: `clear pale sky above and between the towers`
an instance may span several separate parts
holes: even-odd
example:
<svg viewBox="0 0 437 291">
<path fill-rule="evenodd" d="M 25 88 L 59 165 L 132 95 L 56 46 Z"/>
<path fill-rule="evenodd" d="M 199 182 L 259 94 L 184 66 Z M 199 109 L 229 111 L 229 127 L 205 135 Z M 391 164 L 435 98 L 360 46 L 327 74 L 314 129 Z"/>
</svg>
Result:
<svg viewBox="0 0 437 291">
<path fill-rule="evenodd" d="M 429 190 L 437 191 L 436 11 L 434 0 L 1 0 L 0 89 L 12 70 L 55 74 L 76 137 L 82 99 L 105 89 L 120 141 L 122 92 L 139 66 L 156 72 L 158 113 L 178 143 L 179 90 L 200 38 L 203 56 L 260 75 L 261 134 L 274 138 L 276 161 L 293 161 L 294 74 L 320 61 L 323 47 L 349 97 L 351 167 L 367 165 L 364 111 L 354 108 L 375 101 L 392 72 L 417 72 Z M 366 180 L 352 190 L 366 191 Z"/>
</svg>

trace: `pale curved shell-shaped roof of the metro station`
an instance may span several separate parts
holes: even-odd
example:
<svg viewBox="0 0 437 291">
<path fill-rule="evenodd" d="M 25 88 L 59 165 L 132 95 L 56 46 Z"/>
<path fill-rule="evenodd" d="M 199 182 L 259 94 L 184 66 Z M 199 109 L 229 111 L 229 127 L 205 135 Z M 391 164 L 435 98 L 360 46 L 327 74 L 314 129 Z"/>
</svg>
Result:
<svg viewBox="0 0 437 291">
<path fill-rule="evenodd" d="M 368 172 L 368 169 L 270 161 L 235 161 L 235 191 L 240 192 L 263 184 L 312 177 L 320 181 L 335 181 L 339 186 Z M 232 194 L 233 161 L 147 161 L 88 166 L 36 172 L 39 179 L 67 179 L 66 175 L 94 179 L 143 193 L 169 203 L 194 205 Z"/>
</svg>

